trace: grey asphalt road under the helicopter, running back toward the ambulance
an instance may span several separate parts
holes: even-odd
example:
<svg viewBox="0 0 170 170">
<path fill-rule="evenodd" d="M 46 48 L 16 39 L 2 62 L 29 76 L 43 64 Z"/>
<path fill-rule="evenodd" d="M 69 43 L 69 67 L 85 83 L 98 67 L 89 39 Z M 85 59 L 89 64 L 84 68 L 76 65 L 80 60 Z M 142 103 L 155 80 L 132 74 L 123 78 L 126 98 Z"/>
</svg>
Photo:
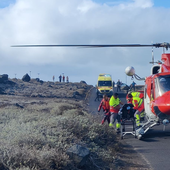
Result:
<svg viewBox="0 0 170 170">
<path fill-rule="evenodd" d="M 114 89 L 116 90 L 116 89 Z M 126 102 L 126 94 L 119 92 L 119 98 Z M 96 114 L 100 101 L 94 101 L 95 89 L 90 92 L 89 110 Z M 170 170 L 170 125 L 163 131 L 163 125 L 153 127 L 142 138 L 138 140 L 133 135 L 125 135 L 123 139 L 137 151 L 141 159 L 153 170 Z"/>
</svg>

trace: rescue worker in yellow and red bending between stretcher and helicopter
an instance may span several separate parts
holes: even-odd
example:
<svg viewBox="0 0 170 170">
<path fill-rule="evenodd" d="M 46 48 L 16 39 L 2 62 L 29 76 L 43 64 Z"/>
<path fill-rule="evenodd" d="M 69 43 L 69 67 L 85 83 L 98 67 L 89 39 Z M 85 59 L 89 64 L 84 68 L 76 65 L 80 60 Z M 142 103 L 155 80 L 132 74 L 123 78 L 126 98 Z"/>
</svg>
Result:
<svg viewBox="0 0 170 170">
<path fill-rule="evenodd" d="M 136 129 L 141 127 L 140 114 L 144 112 L 144 100 L 139 97 L 133 97 L 132 94 L 128 94 L 128 99 L 132 101 L 133 109 L 136 110 L 134 116 L 136 118 Z"/>
</svg>

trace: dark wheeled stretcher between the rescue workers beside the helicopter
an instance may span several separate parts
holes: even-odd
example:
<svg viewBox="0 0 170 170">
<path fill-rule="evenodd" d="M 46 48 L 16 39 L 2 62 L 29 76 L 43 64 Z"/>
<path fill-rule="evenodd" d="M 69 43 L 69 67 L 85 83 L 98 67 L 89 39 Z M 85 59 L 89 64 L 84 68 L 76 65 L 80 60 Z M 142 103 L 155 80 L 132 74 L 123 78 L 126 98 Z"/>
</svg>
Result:
<svg viewBox="0 0 170 170">
<path fill-rule="evenodd" d="M 119 115 L 121 117 L 121 128 L 120 128 L 120 138 L 127 134 L 131 134 L 136 138 L 135 131 L 135 118 L 134 118 L 135 110 L 133 109 L 132 104 L 125 104 L 119 111 Z"/>
</svg>

